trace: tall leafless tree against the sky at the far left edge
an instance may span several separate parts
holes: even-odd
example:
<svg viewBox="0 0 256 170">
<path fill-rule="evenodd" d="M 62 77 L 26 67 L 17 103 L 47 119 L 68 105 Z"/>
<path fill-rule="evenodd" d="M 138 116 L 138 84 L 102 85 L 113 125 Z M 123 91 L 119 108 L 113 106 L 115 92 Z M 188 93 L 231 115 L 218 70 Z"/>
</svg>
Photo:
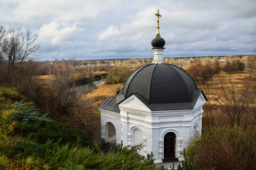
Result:
<svg viewBox="0 0 256 170">
<path fill-rule="evenodd" d="M 9 26 L 5 32 L 1 53 L 7 61 L 7 80 L 10 85 L 18 85 L 23 80 L 23 66 L 26 66 L 26 61 L 34 58 L 34 53 L 39 49 L 36 40 L 37 36 L 32 36 L 29 29 L 16 24 Z"/>
</svg>

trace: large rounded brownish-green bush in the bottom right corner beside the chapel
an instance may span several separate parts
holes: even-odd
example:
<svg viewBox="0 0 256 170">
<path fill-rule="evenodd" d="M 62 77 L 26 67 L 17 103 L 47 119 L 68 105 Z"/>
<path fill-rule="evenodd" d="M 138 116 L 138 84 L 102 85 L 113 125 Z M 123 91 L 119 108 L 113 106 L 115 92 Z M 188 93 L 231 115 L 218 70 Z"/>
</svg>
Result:
<svg viewBox="0 0 256 170">
<path fill-rule="evenodd" d="M 195 154 L 199 169 L 255 169 L 255 137 L 255 129 L 212 127 L 193 139 L 188 150 Z"/>
</svg>

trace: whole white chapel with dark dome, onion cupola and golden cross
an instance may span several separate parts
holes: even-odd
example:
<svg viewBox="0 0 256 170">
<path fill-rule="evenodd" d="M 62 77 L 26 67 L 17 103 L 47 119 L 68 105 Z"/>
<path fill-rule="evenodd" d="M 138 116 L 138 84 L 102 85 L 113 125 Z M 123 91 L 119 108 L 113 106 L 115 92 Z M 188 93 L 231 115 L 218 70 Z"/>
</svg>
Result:
<svg viewBox="0 0 256 170">
<path fill-rule="evenodd" d="M 143 144 L 140 155 L 153 152 L 155 163 L 181 161 L 181 152 L 195 133 L 201 133 L 207 98 L 183 69 L 162 61 L 165 39 L 151 41 L 154 61 L 136 69 L 116 98 L 106 98 L 101 111 L 102 142 L 110 142 L 114 127 L 117 146 Z"/>
</svg>

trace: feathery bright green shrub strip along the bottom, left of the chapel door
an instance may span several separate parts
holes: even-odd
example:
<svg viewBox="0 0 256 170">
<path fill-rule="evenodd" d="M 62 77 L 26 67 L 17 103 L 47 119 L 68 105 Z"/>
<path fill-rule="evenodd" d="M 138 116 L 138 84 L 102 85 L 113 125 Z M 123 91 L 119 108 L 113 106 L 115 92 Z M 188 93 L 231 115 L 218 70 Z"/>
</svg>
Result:
<svg viewBox="0 0 256 170">
<path fill-rule="evenodd" d="M 152 162 L 152 156 L 148 156 L 141 161 L 137 150 L 140 147 L 135 146 L 130 150 L 124 147 L 119 152 L 95 153 L 89 147 L 69 147 L 68 145 L 59 145 L 59 142 L 46 142 L 37 144 L 24 140 L 20 144 L 12 147 L 0 147 L 1 152 L 10 158 L 17 155 L 20 160 L 26 158 L 26 161 L 34 159 L 34 168 L 42 169 L 43 166 L 50 169 L 159 169 Z M 38 163 L 39 162 L 39 163 Z"/>
</svg>

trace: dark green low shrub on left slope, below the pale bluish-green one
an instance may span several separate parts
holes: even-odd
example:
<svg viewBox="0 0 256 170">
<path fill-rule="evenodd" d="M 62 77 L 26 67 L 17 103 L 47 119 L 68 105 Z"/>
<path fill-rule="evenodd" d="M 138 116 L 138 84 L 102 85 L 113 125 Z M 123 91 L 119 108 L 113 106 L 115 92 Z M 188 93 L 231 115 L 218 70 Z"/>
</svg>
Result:
<svg viewBox="0 0 256 170">
<path fill-rule="evenodd" d="M 53 142 L 58 142 L 61 139 L 60 144 L 76 144 L 81 146 L 91 146 L 91 140 L 89 136 L 83 131 L 73 128 L 71 125 L 64 123 L 57 123 L 51 121 L 50 123 L 40 122 L 39 124 L 23 125 L 23 123 L 17 123 L 14 126 L 15 134 L 21 134 L 24 137 L 34 139 L 40 144 L 44 144 L 48 139 Z"/>
</svg>

